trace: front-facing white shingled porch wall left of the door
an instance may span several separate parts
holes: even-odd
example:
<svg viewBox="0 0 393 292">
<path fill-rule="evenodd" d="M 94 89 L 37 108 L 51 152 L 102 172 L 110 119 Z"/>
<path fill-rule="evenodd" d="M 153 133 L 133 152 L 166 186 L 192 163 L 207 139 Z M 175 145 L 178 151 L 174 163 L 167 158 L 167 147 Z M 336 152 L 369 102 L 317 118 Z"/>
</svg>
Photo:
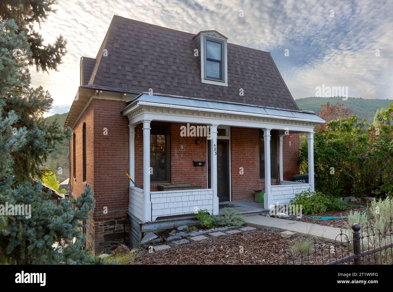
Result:
<svg viewBox="0 0 393 292">
<path fill-rule="evenodd" d="M 150 192 L 152 221 L 160 216 L 195 213 L 206 209 L 213 212 L 213 189 L 166 190 Z"/>
</svg>

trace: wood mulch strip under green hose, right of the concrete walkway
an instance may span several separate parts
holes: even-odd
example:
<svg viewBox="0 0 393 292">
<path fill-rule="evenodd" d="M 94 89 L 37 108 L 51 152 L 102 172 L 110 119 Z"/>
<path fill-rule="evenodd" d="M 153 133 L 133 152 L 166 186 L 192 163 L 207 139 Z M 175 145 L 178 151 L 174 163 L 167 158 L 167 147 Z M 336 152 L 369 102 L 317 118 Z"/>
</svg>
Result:
<svg viewBox="0 0 393 292">
<path fill-rule="evenodd" d="M 354 203 L 354 205 L 364 205 L 365 207 L 367 207 L 367 205 L 365 205 L 363 203 Z M 350 207 L 350 209 L 343 210 L 343 211 L 327 211 L 327 212 L 323 212 L 318 215 L 311 215 L 311 214 L 305 215 L 305 214 L 303 214 L 303 216 L 301 218 L 296 218 L 297 216 L 293 215 L 293 216 L 289 216 L 288 218 L 283 218 L 283 219 L 347 229 L 348 219 L 312 220 L 312 219 L 309 219 L 309 217 L 310 216 L 347 217 L 351 210 L 353 212 L 358 211 L 358 212 L 362 213 L 365 209 L 362 207 Z"/>
</svg>

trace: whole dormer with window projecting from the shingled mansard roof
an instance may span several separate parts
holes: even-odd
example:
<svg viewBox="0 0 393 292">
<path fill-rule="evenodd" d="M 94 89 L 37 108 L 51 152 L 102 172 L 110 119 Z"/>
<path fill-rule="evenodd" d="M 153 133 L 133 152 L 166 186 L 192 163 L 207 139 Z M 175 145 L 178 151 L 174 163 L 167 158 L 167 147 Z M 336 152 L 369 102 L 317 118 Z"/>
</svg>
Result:
<svg viewBox="0 0 393 292">
<path fill-rule="evenodd" d="M 193 39 L 200 55 L 201 82 L 228 86 L 228 38 L 215 30 L 207 30 L 200 31 Z"/>
</svg>

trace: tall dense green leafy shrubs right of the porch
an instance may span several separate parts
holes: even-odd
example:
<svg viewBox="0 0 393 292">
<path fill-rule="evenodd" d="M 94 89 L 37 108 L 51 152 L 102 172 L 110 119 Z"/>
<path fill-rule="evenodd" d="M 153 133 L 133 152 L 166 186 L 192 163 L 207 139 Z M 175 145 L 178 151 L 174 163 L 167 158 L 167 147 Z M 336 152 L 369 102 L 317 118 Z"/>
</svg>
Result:
<svg viewBox="0 0 393 292">
<path fill-rule="evenodd" d="M 314 170 L 321 175 L 316 189 L 333 196 L 393 195 L 393 103 L 384 123 L 372 125 L 357 116 L 338 118 L 314 135 Z M 308 168 L 307 139 L 299 163 Z"/>
</svg>

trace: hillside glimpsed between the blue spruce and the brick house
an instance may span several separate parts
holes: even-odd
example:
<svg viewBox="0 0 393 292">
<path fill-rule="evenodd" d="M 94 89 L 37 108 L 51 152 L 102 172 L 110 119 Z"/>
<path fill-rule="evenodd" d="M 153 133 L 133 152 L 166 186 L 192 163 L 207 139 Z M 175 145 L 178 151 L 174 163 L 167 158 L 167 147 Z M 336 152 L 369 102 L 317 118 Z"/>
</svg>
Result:
<svg viewBox="0 0 393 292">
<path fill-rule="evenodd" d="M 49 125 L 57 119 L 57 122 L 63 128 L 67 115 L 68 113 L 48 116 L 46 118 L 46 123 Z M 70 177 L 70 142 L 68 139 L 64 139 L 63 144 L 57 144 L 57 151 L 54 151 L 49 155 L 48 161 L 46 161 L 45 165 L 53 170 L 56 174 L 57 180 L 60 182 Z M 62 174 L 58 174 L 59 167 L 62 168 Z"/>
</svg>

